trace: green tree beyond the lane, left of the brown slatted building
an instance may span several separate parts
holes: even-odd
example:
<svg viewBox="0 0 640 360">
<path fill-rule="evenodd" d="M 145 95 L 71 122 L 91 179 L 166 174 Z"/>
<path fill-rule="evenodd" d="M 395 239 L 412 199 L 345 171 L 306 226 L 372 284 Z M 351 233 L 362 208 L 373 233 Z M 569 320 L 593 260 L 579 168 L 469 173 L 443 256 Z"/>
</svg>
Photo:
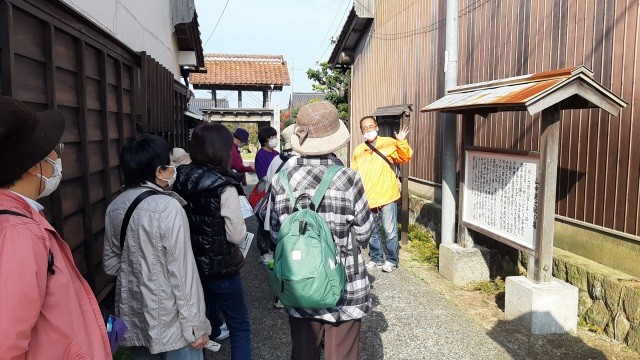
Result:
<svg viewBox="0 0 640 360">
<path fill-rule="evenodd" d="M 307 77 L 314 83 L 311 87 L 314 91 L 321 91 L 327 95 L 327 101 L 338 109 L 340 119 L 349 120 L 349 82 L 351 70 L 342 72 L 332 69 L 327 62 L 321 62 L 320 69 L 307 70 Z"/>
</svg>

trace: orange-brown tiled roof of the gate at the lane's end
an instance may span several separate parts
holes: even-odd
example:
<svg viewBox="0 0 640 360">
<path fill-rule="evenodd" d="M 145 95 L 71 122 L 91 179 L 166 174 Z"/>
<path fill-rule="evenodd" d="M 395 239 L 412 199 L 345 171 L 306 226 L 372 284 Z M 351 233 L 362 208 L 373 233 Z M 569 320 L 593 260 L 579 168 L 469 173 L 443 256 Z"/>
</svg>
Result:
<svg viewBox="0 0 640 360">
<path fill-rule="evenodd" d="M 205 54 L 206 73 L 192 73 L 194 85 L 290 85 L 282 55 Z"/>
</svg>

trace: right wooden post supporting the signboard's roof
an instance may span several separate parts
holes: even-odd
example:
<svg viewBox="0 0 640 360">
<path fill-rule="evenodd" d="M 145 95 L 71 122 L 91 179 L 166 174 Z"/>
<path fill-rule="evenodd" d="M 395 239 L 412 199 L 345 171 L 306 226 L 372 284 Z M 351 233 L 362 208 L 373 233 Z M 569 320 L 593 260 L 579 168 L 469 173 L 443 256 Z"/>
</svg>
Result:
<svg viewBox="0 0 640 360">
<path fill-rule="evenodd" d="M 527 277 L 536 283 L 549 282 L 553 265 L 553 227 L 558 175 L 558 145 L 560 141 L 560 107 L 554 105 L 542 111 L 540 124 L 540 167 L 538 176 L 538 218 L 536 221 L 536 252 L 529 257 Z M 533 259 L 532 259 L 533 258 Z M 533 260 L 533 261 L 532 261 Z"/>
</svg>

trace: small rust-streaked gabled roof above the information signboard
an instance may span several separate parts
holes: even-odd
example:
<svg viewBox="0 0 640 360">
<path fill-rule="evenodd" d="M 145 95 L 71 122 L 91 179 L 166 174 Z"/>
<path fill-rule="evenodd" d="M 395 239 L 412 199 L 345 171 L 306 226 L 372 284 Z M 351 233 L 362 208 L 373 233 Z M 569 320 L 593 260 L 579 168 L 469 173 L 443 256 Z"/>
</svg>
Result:
<svg viewBox="0 0 640 360">
<path fill-rule="evenodd" d="M 552 105 L 561 109 L 601 108 L 618 115 L 627 103 L 604 88 L 584 66 L 488 81 L 453 88 L 421 111 L 448 113 L 528 111 Z"/>
</svg>

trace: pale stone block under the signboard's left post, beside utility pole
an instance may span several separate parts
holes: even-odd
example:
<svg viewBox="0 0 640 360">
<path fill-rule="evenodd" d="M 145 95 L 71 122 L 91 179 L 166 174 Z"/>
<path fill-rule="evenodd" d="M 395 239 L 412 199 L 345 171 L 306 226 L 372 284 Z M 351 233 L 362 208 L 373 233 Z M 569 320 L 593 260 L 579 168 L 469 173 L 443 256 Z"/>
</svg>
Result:
<svg viewBox="0 0 640 360">
<path fill-rule="evenodd" d="M 489 281 L 489 249 L 474 246 L 466 249 L 458 244 L 440 244 L 440 276 L 456 285 Z"/>
</svg>

